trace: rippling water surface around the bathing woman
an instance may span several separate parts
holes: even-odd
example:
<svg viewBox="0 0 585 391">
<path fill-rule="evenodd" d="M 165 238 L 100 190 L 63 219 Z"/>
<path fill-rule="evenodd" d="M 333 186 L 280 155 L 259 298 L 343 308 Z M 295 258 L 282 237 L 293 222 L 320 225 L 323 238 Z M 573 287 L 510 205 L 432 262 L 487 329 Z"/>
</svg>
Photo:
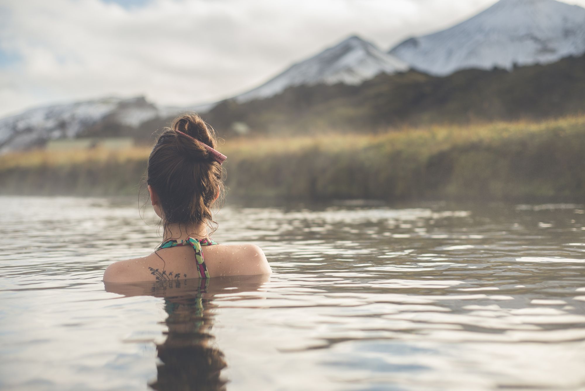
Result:
<svg viewBox="0 0 585 391">
<path fill-rule="evenodd" d="M 3 390 L 585 387 L 583 205 L 232 205 L 270 277 L 104 286 L 135 201 L 0 201 Z"/>
</svg>

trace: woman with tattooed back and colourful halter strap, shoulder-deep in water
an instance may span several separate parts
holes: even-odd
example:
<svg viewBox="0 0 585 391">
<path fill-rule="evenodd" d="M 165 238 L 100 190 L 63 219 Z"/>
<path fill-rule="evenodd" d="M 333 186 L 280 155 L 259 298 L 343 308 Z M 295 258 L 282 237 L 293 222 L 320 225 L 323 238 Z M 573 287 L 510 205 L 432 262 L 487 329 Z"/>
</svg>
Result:
<svg viewBox="0 0 585 391">
<path fill-rule="evenodd" d="M 221 164 L 226 159 L 215 145 L 213 129 L 198 115 L 178 117 L 160 135 L 148 159 L 147 184 L 154 212 L 162 220 L 163 243 L 143 258 L 112 263 L 104 282 L 271 273 L 258 246 L 221 245 L 209 238 L 211 210 L 224 189 Z"/>
</svg>

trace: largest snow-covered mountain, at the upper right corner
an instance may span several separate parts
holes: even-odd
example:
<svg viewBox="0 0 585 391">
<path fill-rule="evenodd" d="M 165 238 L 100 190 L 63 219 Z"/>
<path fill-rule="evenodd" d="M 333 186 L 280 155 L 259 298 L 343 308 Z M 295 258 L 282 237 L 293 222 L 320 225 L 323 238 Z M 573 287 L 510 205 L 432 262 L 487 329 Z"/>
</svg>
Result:
<svg viewBox="0 0 585 391">
<path fill-rule="evenodd" d="M 500 0 L 459 25 L 405 40 L 389 53 L 436 76 L 552 63 L 585 53 L 585 8 L 555 0 Z"/>
</svg>

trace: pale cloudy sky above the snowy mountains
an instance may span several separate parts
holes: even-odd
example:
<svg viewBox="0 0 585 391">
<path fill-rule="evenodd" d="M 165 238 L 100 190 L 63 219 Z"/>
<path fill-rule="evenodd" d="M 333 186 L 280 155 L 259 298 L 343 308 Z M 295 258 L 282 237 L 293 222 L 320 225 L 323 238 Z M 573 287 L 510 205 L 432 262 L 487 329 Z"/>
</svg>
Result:
<svg viewBox="0 0 585 391">
<path fill-rule="evenodd" d="M 106 96 L 214 102 L 347 36 L 387 50 L 494 2 L 0 0 L 0 116 Z"/>
</svg>

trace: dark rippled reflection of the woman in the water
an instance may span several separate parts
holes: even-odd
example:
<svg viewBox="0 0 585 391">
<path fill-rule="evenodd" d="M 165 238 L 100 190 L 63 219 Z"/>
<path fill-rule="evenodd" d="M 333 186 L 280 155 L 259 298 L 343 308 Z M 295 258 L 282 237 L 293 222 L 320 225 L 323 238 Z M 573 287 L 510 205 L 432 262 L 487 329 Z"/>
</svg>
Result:
<svg viewBox="0 0 585 391">
<path fill-rule="evenodd" d="M 231 293 L 257 291 L 269 276 L 184 279 L 155 283 L 106 283 L 106 291 L 131 296 L 164 298 L 168 331 L 163 343 L 156 345 L 157 379 L 150 387 L 160 391 L 225 390 L 221 377 L 227 363 L 214 346 L 214 296 L 229 289 Z M 233 289 L 232 286 L 238 286 Z"/>
</svg>

